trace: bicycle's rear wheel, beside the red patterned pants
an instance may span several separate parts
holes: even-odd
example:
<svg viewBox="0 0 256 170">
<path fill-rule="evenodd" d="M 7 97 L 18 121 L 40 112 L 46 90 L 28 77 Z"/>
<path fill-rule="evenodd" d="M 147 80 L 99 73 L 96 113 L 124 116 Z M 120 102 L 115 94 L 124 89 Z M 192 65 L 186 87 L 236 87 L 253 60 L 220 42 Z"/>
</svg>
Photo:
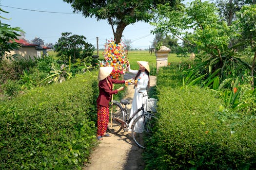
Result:
<svg viewBox="0 0 256 170">
<path fill-rule="evenodd" d="M 120 132 L 122 128 L 121 123 L 115 120 L 114 118 L 124 120 L 122 107 L 115 102 L 109 105 L 108 131 L 112 134 L 117 134 L 118 132 Z"/>
</svg>

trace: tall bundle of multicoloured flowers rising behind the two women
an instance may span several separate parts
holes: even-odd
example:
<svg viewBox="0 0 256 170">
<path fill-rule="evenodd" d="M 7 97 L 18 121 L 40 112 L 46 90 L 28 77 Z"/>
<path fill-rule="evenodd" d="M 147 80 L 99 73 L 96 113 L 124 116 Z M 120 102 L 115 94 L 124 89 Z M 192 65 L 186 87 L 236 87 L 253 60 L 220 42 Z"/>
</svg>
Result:
<svg viewBox="0 0 256 170">
<path fill-rule="evenodd" d="M 121 74 L 124 74 L 127 69 L 124 45 L 122 43 L 116 44 L 113 39 L 108 40 L 108 43 L 105 44 L 103 55 L 105 62 L 100 62 L 99 67 L 113 67 L 113 71 L 110 75 L 113 79 L 119 79 Z"/>
</svg>

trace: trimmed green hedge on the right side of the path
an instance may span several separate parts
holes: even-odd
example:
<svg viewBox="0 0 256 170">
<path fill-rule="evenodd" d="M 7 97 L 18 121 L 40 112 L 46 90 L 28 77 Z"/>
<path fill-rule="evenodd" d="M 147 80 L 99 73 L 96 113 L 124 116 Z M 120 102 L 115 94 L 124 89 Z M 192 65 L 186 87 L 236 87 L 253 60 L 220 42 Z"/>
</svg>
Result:
<svg viewBox="0 0 256 170">
<path fill-rule="evenodd" d="M 256 116 L 223 109 L 207 88 L 182 90 L 175 69 L 158 72 L 159 121 L 143 153 L 146 170 L 255 170 Z"/>
</svg>

